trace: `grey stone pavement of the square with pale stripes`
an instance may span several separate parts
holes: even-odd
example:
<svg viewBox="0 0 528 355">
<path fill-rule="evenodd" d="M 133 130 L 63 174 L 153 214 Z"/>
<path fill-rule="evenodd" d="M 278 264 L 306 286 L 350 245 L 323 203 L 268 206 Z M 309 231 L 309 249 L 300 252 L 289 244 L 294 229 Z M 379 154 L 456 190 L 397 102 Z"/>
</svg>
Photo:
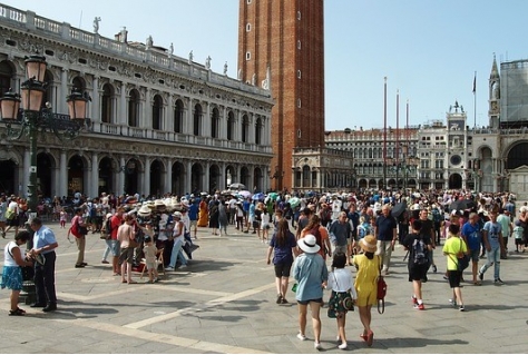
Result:
<svg viewBox="0 0 528 355">
<path fill-rule="evenodd" d="M 273 266 L 265 264 L 266 246 L 255 235 L 229 228 L 231 234 L 221 238 L 202 228 L 201 248 L 187 268 L 167 273 L 159 284 L 143 284 L 147 277 L 140 280 L 134 275 L 139 283 L 127 285 L 111 276 L 110 265 L 100 264 L 105 243 L 98 235 L 88 236 L 89 265 L 75 268 L 76 245 L 58 224 L 49 226 L 59 241 L 59 309 L 45 314 L 21 305 L 27 316 L 10 317 L 9 290 L 1 290 L 2 353 L 317 352 L 310 319 L 309 339 L 296 338 L 294 295 L 287 295 L 287 305 L 275 304 Z M 2 250 L 7 240 L 0 239 Z M 466 283 L 465 313 L 448 304 L 451 290 L 442 278 L 446 259 L 437 254 L 439 273 L 430 274 L 423 286 L 427 309 L 415 310 L 404 250 L 397 247 L 387 277 L 385 313 L 372 316 L 374 345 L 368 348 L 360 339 L 358 312 L 349 313 L 344 353 L 526 353 L 528 252 L 510 253 L 502 260 L 506 285 L 493 285 L 492 267 L 482 286 Z M 343 353 L 336 347 L 335 321 L 326 316 L 326 308 L 321 318 L 322 352 Z"/>
</svg>

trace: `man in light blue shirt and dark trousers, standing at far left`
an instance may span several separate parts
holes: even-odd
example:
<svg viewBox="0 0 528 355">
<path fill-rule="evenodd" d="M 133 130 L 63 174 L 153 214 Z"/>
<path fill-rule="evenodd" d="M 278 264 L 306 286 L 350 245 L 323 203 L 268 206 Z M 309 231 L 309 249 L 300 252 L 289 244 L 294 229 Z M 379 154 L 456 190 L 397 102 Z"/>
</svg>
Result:
<svg viewBox="0 0 528 355">
<path fill-rule="evenodd" d="M 42 220 L 35 217 L 31 220 L 33 235 L 33 248 L 30 255 L 39 259 L 43 256 L 43 264 L 35 263 L 35 288 L 37 290 L 37 302 L 30 307 L 43 307 L 43 312 L 57 310 L 57 295 L 55 290 L 55 260 L 57 255 L 55 249 L 59 246 L 53 231 L 42 226 Z"/>
</svg>

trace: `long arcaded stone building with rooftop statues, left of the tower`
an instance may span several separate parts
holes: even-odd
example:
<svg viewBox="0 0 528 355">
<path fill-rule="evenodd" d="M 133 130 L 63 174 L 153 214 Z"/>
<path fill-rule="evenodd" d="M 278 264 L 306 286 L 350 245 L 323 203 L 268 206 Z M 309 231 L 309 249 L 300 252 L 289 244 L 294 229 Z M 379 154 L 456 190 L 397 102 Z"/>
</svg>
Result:
<svg viewBox="0 0 528 355">
<path fill-rule="evenodd" d="M 151 38 L 128 41 L 126 29 L 110 39 L 96 26 L 88 32 L 31 11 L 2 7 L 0 16 L 1 95 L 20 92 L 25 56 L 39 53 L 53 112 L 67 114 L 72 88 L 91 97 L 91 125 L 76 140 L 39 135 L 41 196 L 211 194 L 232 183 L 270 188 L 270 90 L 213 72 L 209 59 L 175 56 Z M 0 125 L 0 189 L 25 196 L 29 164 L 27 137 L 9 140 Z"/>
</svg>

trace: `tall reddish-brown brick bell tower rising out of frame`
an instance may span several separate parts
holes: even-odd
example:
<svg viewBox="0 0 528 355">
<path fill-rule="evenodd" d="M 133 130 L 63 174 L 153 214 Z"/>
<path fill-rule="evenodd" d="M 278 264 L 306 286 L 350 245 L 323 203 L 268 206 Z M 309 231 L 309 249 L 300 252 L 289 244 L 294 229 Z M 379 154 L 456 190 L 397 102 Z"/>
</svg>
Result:
<svg viewBox="0 0 528 355">
<path fill-rule="evenodd" d="M 324 147 L 323 20 L 323 0 L 239 0 L 238 79 L 268 85 L 275 102 L 274 190 L 293 187 L 294 148 Z"/>
</svg>

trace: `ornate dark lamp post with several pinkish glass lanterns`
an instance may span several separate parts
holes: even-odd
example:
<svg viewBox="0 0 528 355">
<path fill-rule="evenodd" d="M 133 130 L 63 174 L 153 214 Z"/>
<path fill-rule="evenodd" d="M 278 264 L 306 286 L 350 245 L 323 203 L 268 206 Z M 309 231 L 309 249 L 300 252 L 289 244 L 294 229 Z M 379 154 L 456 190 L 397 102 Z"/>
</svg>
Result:
<svg viewBox="0 0 528 355">
<path fill-rule="evenodd" d="M 49 102 L 42 107 L 46 87 L 46 58 L 43 56 L 26 57 L 26 77 L 21 85 L 22 95 L 9 89 L 0 98 L 1 122 L 7 127 L 7 138 L 18 140 L 22 136 L 29 137 L 29 184 L 28 206 L 31 213 L 37 211 L 37 135 L 52 131 L 59 139 L 74 139 L 82 128 L 89 126 L 86 118 L 86 106 L 90 99 L 88 95 L 75 91 L 67 97 L 69 115 L 51 112 Z M 20 107 L 21 106 L 21 107 Z"/>
</svg>

